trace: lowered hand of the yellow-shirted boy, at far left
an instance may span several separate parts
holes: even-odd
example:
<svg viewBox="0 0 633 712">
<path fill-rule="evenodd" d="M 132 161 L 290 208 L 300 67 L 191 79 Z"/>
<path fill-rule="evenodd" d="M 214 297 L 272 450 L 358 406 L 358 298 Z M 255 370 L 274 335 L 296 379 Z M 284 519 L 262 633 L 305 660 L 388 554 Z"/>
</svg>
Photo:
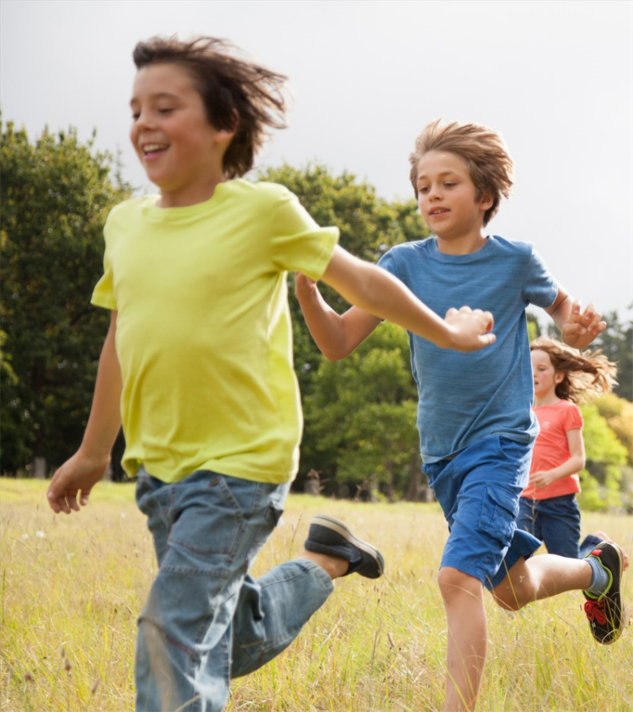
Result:
<svg viewBox="0 0 633 712">
<path fill-rule="evenodd" d="M 70 514 L 73 510 L 78 512 L 80 505 L 87 505 L 90 491 L 103 477 L 108 462 L 108 457 L 93 458 L 81 451 L 67 460 L 53 475 L 46 493 L 53 512 Z"/>
</svg>

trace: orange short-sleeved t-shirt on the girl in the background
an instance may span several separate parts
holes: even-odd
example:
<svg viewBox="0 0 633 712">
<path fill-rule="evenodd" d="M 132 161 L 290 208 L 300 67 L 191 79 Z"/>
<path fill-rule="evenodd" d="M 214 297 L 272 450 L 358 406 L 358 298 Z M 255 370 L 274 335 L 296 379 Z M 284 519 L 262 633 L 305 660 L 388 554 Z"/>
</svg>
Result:
<svg viewBox="0 0 633 712">
<path fill-rule="evenodd" d="M 575 403 L 560 400 L 551 405 L 533 408 L 540 425 L 540 433 L 534 443 L 530 473 L 551 470 L 570 459 L 567 431 L 582 430 L 582 415 Z M 577 473 L 563 477 L 538 490 L 529 484 L 521 493 L 530 499 L 550 499 L 564 494 L 580 492 Z"/>
</svg>

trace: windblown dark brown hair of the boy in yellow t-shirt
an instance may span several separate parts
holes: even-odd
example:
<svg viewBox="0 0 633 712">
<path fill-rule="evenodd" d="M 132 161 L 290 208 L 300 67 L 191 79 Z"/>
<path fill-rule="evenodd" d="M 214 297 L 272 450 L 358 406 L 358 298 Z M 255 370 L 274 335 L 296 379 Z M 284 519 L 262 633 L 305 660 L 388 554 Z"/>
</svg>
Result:
<svg viewBox="0 0 633 712">
<path fill-rule="evenodd" d="M 185 68 L 202 97 L 211 125 L 236 130 L 224 153 L 227 178 L 249 172 L 268 128 L 286 128 L 286 76 L 249 61 L 226 40 L 152 37 L 139 42 L 132 56 L 137 69 L 151 64 Z"/>
</svg>

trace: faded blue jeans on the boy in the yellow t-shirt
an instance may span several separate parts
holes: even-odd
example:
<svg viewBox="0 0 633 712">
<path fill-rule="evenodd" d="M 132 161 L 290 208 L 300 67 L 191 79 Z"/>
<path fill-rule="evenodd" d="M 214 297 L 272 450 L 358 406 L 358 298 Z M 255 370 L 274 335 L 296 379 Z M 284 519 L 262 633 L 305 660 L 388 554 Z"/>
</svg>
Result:
<svg viewBox="0 0 633 712">
<path fill-rule="evenodd" d="M 230 679 L 285 649 L 333 591 L 307 560 L 249 576 L 288 488 L 209 471 L 167 484 L 140 468 L 159 571 L 138 621 L 137 712 L 221 711 Z"/>
</svg>

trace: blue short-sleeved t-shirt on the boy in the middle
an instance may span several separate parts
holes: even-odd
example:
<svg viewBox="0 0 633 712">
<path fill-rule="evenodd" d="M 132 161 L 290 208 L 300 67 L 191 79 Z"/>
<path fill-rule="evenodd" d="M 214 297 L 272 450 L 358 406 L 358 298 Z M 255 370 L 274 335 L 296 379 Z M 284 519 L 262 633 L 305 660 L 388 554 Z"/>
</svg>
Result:
<svg viewBox="0 0 633 712">
<path fill-rule="evenodd" d="M 422 459 L 436 462 L 491 435 L 538 434 L 525 308 L 549 307 L 558 285 L 531 244 L 488 237 L 477 252 L 447 255 L 436 238 L 398 245 L 380 266 L 442 318 L 451 307 L 491 311 L 496 342 L 473 353 L 409 333 Z"/>
</svg>

